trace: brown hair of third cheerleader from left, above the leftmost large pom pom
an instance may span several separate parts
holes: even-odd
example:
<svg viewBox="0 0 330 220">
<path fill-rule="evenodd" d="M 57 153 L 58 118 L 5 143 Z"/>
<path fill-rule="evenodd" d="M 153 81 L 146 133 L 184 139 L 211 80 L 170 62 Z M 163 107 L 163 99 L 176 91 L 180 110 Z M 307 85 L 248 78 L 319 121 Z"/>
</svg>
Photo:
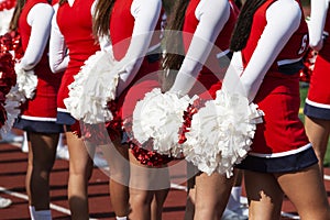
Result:
<svg viewBox="0 0 330 220">
<path fill-rule="evenodd" d="M 112 7 L 116 0 L 98 0 L 92 16 L 92 33 L 95 38 L 109 35 L 109 23 Z"/>
</svg>

